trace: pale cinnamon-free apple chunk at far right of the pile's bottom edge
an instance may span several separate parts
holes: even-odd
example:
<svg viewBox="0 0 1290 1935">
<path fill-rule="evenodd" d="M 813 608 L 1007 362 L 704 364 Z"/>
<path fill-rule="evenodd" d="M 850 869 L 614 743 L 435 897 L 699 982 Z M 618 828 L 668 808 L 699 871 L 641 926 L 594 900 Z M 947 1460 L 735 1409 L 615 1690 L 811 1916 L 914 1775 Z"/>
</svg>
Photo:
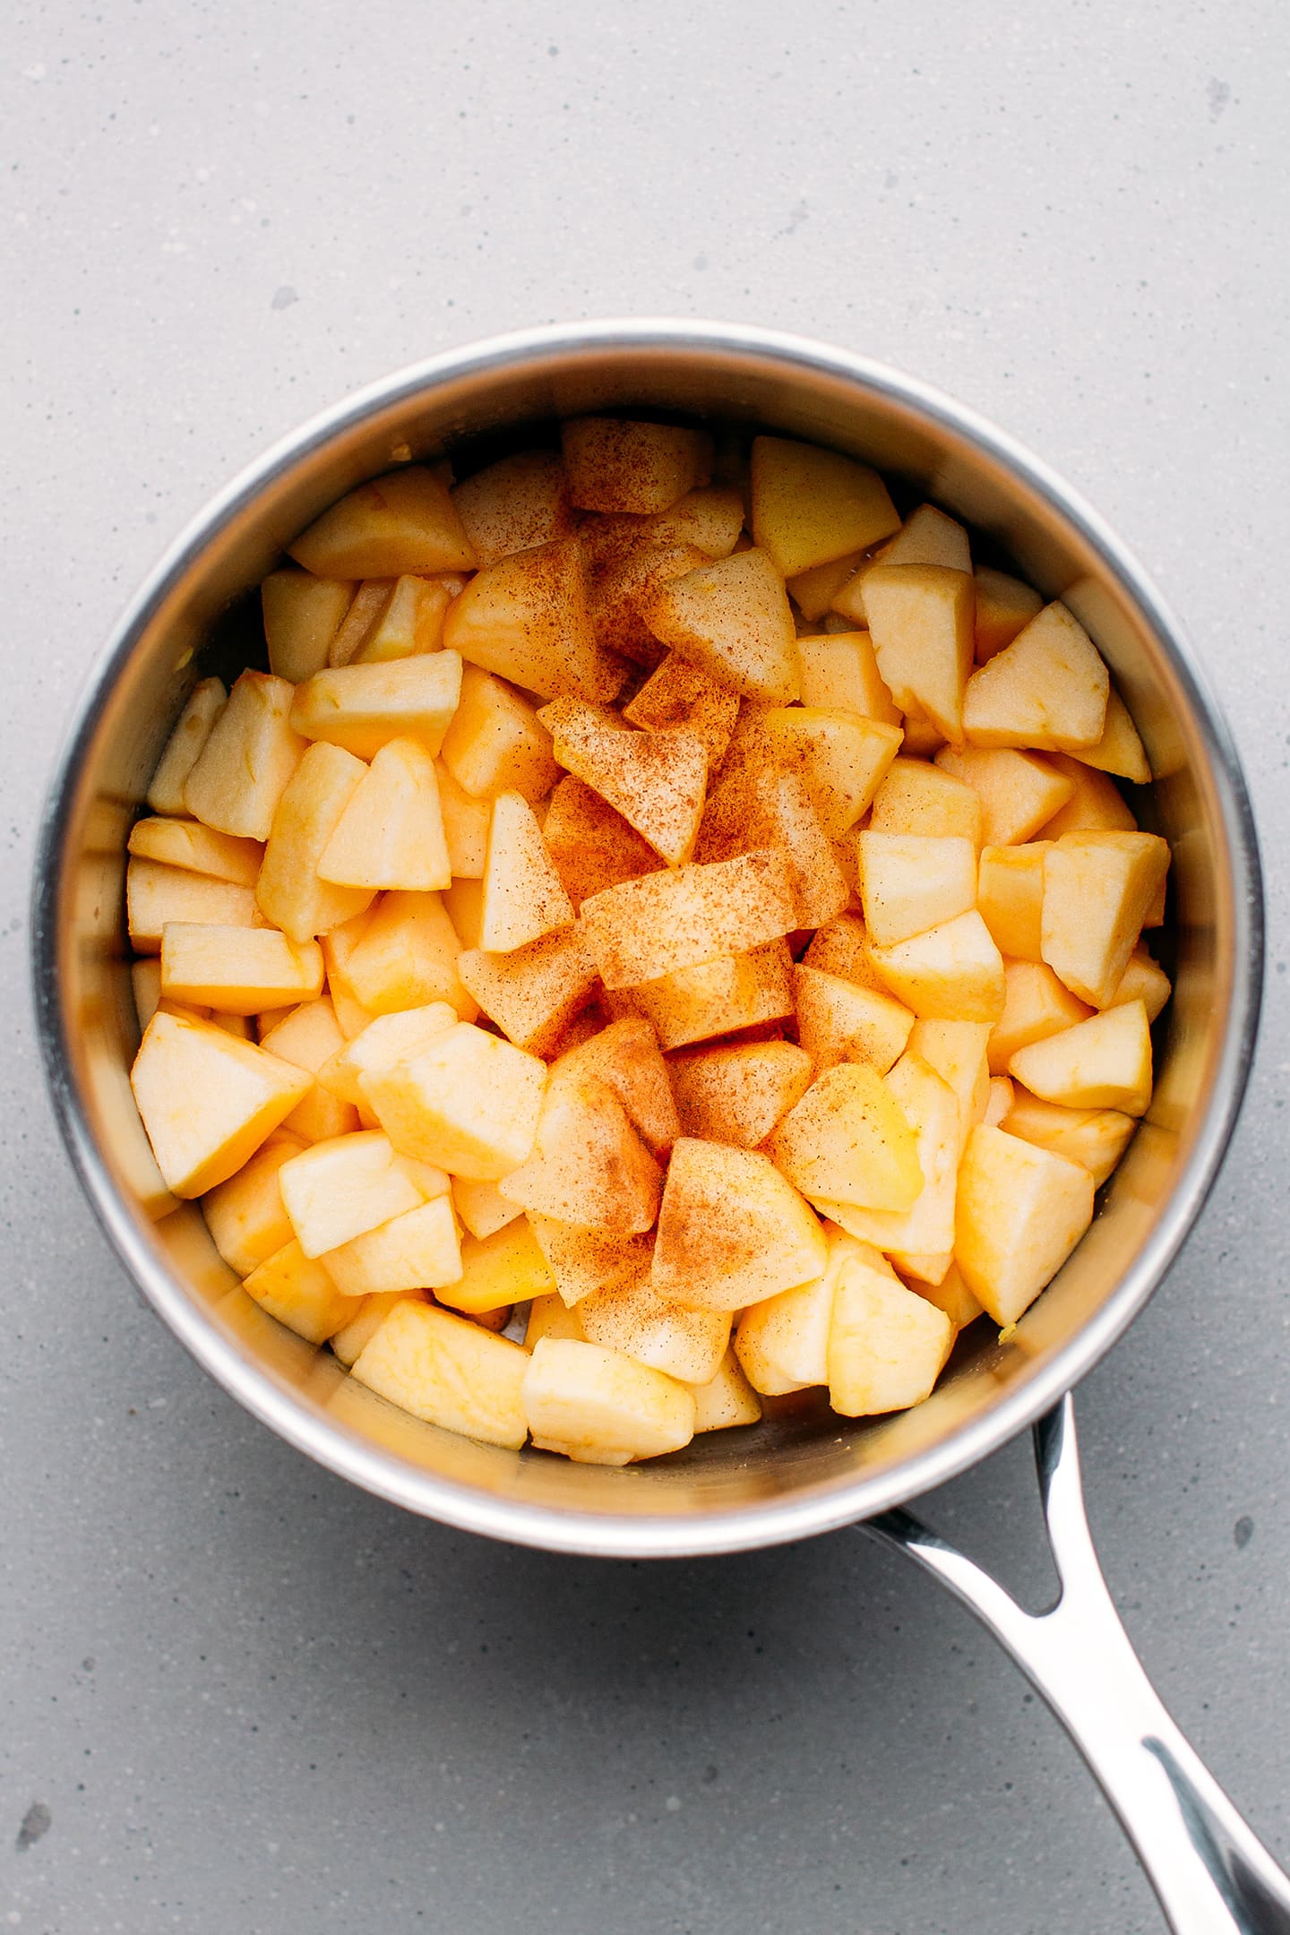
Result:
<svg viewBox="0 0 1290 1935">
<path fill-rule="evenodd" d="M 837 1271 L 828 1333 L 828 1401 L 843 1418 L 907 1411 L 932 1393 L 955 1329 L 944 1310 L 905 1289 L 884 1258 L 849 1256 Z"/>
</svg>

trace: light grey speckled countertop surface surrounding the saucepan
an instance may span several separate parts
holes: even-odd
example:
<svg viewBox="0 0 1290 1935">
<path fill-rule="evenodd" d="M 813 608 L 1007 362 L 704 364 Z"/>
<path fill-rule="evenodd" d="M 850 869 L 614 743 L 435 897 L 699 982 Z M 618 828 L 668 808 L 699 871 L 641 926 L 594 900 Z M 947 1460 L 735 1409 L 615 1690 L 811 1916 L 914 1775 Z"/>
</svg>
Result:
<svg viewBox="0 0 1290 1935">
<path fill-rule="evenodd" d="M 1079 1409 L 1147 1666 L 1290 1856 L 1288 21 L 62 0 L 8 27 L 0 1927 L 1158 1925 L 1073 1749 L 913 1569 L 855 1533 L 555 1560 L 358 1496 L 139 1308 L 50 1126 L 33 820 L 135 580 L 352 385 L 632 312 L 777 323 L 957 393 L 1122 530 L 1222 691 L 1273 877 L 1259 1064 Z M 1025 1444 L 928 1509 L 1042 1585 Z"/>
</svg>

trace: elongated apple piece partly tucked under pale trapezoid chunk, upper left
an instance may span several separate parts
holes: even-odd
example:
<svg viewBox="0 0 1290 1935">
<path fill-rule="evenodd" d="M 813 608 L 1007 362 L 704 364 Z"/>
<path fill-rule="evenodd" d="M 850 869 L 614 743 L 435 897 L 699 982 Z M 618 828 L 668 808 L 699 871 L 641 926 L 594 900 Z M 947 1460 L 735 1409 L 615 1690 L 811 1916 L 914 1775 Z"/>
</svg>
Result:
<svg viewBox="0 0 1290 1935">
<path fill-rule="evenodd" d="M 367 770 L 338 745 L 311 745 L 279 801 L 255 900 L 265 919 L 292 940 L 325 935 L 371 906 L 373 886 L 337 886 L 319 875 L 323 853 Z"/>
</svg>

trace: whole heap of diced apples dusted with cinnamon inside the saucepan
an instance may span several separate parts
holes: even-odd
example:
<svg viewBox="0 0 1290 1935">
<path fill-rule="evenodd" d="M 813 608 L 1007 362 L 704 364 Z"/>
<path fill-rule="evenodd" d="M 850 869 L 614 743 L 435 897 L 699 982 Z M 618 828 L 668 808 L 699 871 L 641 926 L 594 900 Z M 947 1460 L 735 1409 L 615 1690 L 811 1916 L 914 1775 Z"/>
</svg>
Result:
<svg viewBox="0 0 1290 1935">
<path fill-rule="evenodd" d="M 354 491 L 130 842 L 168 1190 L 381 1395 L 600 1463 L 926 1397 L 1087 1229 L 1168 998 L 1075 617 L 839 455 L 712 461 L 586 418 Z"/>
</svg>

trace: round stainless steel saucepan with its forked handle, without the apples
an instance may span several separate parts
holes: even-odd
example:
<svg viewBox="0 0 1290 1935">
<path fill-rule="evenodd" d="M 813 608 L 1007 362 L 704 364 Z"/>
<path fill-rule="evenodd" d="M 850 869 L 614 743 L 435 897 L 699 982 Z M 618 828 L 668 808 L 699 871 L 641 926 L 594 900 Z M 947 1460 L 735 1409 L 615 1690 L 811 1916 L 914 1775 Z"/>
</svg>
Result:
<svg viewBox="0 0 1290 1935">
<path fill-rule="evenodd" d="M 472 1444 L 385 1405 L 282 1329 L 166 1198 L 128 1084 L 137 1043 L 122 933 L 126 836 L 193 679 L 255 662 L 253 588 L 286 542 L 364 478 L 470 445 L 520 447 L 555 418 L 642 410 L 756 424 L 863 457 L 973 526 L 990 561 L 1064 598 L 1100 646 L 1174 851 L 1174 998 L 1157 1091 L 1097 1219 L 1000 1337 L 969 1327 L 915 1411 L 847 1424 L 791 1413 L 627 1469 Z M 598 1556 L 739 1552 L 836 1527 L 907 1552 L 1008 1647 L 1102 1782 L 1174 1929 L 1290 1931 L 1290 1883 L 1151 1691 L 1102 1581 L 1070 1389 L 1162 1281 L 1242 1101 L 1263 933 L 1255 836 L 1228 729 L 1178 625 L 1106 526 L 969 410 L 861 356 L 760 329 L 627 321 L 453 350 L 362 391 L 232 484 L 143 586 L 89 681 L 54 780 L 35 884 L 35 981 L 62 1130 L 104 1231 L 193 1356 L 257 1418 L 410 1511 Z M 1035 1426 L 1062 1583 L 1021 1610 L 903 1502 Z"/>
</svg>

